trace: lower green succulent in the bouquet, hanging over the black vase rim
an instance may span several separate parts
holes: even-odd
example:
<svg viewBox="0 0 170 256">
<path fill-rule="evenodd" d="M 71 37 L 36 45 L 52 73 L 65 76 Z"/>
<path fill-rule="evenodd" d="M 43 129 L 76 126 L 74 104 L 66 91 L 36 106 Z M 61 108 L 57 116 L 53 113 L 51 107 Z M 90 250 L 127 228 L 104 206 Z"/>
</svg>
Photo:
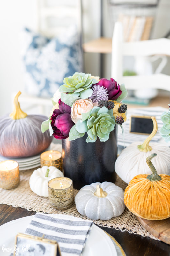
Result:
<svg viewBox="0 0 170 256">
<path fill-rule="evenodd" d="M 106 107 L 94 107 L 89 112 L 89 116 L 86 116 L 86 120 L 78 121 L 75 125 L 75 129 L 80 134 L 87 132 L 88 137 L 86 142 L 95 142 L 97 137 L 104 142 L 108 140 L 109 134 L 114 130 L 115 117 L 113 116 L 113 110 L 109 110 Z"/>
</svg>

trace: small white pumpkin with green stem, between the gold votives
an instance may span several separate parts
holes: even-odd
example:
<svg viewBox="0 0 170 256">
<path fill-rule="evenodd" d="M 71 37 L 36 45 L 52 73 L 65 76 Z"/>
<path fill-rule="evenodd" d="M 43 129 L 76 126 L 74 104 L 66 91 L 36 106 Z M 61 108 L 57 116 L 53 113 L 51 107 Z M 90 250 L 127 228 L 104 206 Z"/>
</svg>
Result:
<svg viewBox="0 0 170 256">
<path fill-rule="evenodd" d="M 30 176 L 30 188 L 38 196 L 48 197 L 48 181 L 56 177 L 64 177 L 63 172 L 56 167 L 43 166 L 38 168 Z"/>
</svg>

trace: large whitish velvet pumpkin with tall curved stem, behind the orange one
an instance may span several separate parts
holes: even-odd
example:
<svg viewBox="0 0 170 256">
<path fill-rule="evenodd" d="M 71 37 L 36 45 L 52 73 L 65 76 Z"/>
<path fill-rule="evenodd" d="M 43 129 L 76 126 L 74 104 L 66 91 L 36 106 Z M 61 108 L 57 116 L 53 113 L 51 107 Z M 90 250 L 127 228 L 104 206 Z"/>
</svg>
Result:
<svg viewBox="0 0 170 256">
<path fill-rule="evenodd" d="M 165 144 L 150 142 L 158 130 L 156 118 L 153 116 L 151 118 L 153 131 L 149 137 L 143 144 L 134 142 L 123 149 L 115 162 L 115 172 L 126 183 L 138 174 L 152 174 L 146 158 L 153 153 L 157 154 L 152 161 L 158 174 L 170 175 L 170 148 Z"/>
</svg>

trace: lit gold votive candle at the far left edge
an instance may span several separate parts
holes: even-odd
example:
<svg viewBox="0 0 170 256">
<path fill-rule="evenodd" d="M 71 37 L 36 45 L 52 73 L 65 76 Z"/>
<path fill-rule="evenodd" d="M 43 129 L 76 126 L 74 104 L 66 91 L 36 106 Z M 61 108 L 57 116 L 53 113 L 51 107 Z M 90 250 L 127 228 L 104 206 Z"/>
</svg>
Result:
<svg viewBox="0 0 170 256">
<path fill-rule="evenodd" d="M 0 188 L 13 189 L 19 184 L 19 165 L 13 160 L 0 162 Z"/>
</svg>

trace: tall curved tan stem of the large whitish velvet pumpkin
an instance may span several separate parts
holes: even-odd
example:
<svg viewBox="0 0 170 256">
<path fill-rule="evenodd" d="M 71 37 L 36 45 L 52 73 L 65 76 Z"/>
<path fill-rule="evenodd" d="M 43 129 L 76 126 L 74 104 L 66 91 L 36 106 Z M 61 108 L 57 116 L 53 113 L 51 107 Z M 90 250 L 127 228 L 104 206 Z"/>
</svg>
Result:
<svg viewBox="0 0 170 256">
<path fill-rule="evenodd" d="M 154 116 L 152 116 L 151 119 L 153 121 L 152 133 L 148 136 L 148 138 L 146 138 L 146 140 L 144 141 L 144 143 L 142 145 L 137 146 L 137 148 L 142 152 L 148 152 L 148 151 L 152 150 L 151 146 L 149 146 L 149 142 L 155 136 L 155 134 L 157 133 L 157 130 L 158 130 L 156 118 Z"/>
</svg>

